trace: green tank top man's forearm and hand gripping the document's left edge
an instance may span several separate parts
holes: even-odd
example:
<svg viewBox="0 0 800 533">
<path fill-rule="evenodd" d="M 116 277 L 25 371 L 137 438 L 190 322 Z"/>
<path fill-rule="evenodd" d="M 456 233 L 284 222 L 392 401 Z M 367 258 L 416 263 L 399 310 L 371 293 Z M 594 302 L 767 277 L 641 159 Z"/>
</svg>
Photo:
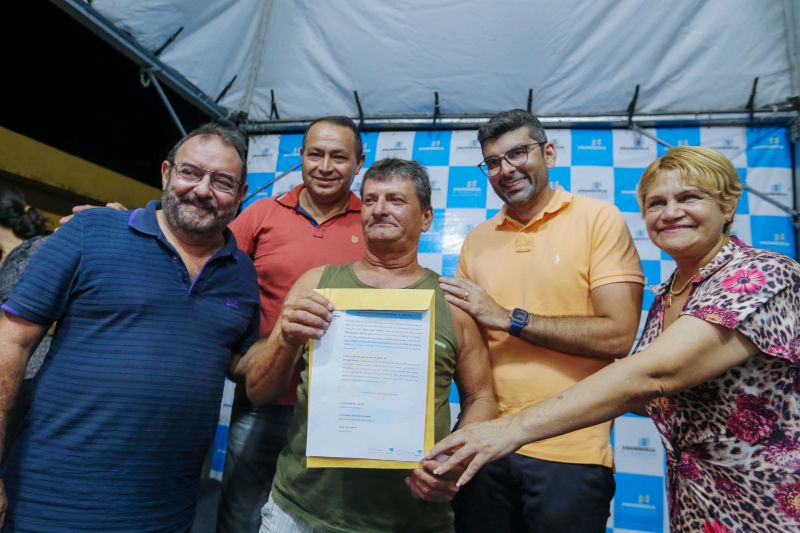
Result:
<svg viewBox="0 0 800 533">
<path fill-rule="evenodd" d="M 305 343 L 322 337 L 328 329 L 333 306 L 314 291 L 323 269 L 311 269 L 295 282 L 272 333 L 256 341 L 238 362 L 237 372 L 246 376 L 247 396 L 253 404 L 263 405 L 283 393 Z"/>
</svg>

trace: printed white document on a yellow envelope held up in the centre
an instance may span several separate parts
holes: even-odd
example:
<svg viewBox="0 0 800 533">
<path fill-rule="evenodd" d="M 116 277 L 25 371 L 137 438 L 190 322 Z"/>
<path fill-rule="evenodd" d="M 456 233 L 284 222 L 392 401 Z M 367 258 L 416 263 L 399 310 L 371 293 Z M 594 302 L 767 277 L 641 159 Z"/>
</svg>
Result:
<svg viewBox="0 0 800 533">
<path fill-rule="evenodd" d="M 319 292 L 336 310 L 310 354 L 308 466 L 417 467 L 433 445 L 433 291 Z"/>
</svg>

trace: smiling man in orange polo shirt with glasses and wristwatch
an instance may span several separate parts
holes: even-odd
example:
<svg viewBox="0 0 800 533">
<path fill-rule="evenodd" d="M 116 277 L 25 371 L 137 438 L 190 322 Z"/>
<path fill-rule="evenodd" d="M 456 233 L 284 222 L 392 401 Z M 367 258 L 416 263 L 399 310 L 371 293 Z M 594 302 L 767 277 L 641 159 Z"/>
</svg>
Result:
<svg viewBox="0 0 800 533">
<path fill-rule="evenodd" d="M 441 287 L 480 325 L 509 416 L 629 352 L 644 276 L 616 207 L 549 187 L 556 147 L 536 117 L 499 113 L 478 140 L 480 167 L 504 206 L 470 232 L 458 277 Z M 610 429 L 529 444 L 486 465 L 454 501 L 456 530 L 605 531 Z"/>
</svg>

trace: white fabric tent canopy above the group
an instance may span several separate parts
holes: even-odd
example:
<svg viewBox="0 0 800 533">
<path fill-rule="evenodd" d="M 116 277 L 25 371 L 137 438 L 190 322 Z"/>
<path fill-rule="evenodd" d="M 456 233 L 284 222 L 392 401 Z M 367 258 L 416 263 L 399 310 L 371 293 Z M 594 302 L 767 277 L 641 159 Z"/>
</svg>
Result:
<svg viewBox="0 0 800 533">
<path fill-rule="evenodd" d="M 474 118 L 524 108 L 529 91 L 545 118 L 624 117 L 637 85 L 637 117 L 785 121 L 800 95 L 795 0 L 68 0 L 62 7 L 118 48 L 137 51 L 140 64 L 210 113 L 251 126 L 329 114 Z"/>
</svg>

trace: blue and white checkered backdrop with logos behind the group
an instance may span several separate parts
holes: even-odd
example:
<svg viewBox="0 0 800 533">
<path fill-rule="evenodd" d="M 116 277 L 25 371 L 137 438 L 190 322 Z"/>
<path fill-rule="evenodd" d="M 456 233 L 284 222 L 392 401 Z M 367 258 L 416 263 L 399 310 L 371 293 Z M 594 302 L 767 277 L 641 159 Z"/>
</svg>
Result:
<svg viewBox="0 0 800 533">
<path fill-rule="evenodd" d="M 733 161 L 743 181 L 775 201 L 793 206 L 791 146 L 782 128 L 658 128 L 650 134 L 673 146 L 714 148 Z M 493 216 L 502 202 L 486 176 L 476 167 L 481 161 L 476 131 L 371 132 L 362 135 L 366 163 L 385 157 L 416 159 L 428 168 L 433 187 L 434 222 L 420 242 L 420 262 L 452 275 L 464 236 Z M 548 130 L 556 145 L 556 167 L 550 171 L 553 187 L 592 196 L 619 207 L 628 222 L 642 259 L 647 285 L 666 279 L 674 269 L 669 256 L 648 239 L 636 202 L 636 184 L 647 165 L 666 149 L 630 130 Z M 253 191 L 276 174 L 300 161 L 302 135 L 267 135 L 250 139 L 248 185 Z M 301 182 L 299 170 L 261 191 L 259 198 L 288 191 Z M 361 175 L 353 183 L 358 191 Z M 744 192 L 734 223 L 734 233 L 754 246 L 795 257 L 794 229 L 789 216 L 763 199 Z M 645 291 L 642 320 L 653 301 Z M 231 402 L 226 394 L 226 411 Z M 451 401 L 457 401 L 455 395 Z M 212 470 L 222 469 L 227 415 L 223 413 Z M 664 450 L 649 419 L 623 416 L 614 427 L 617 493 L 609 531 L 667 531 L 664 498 Z"/>
</svg>

